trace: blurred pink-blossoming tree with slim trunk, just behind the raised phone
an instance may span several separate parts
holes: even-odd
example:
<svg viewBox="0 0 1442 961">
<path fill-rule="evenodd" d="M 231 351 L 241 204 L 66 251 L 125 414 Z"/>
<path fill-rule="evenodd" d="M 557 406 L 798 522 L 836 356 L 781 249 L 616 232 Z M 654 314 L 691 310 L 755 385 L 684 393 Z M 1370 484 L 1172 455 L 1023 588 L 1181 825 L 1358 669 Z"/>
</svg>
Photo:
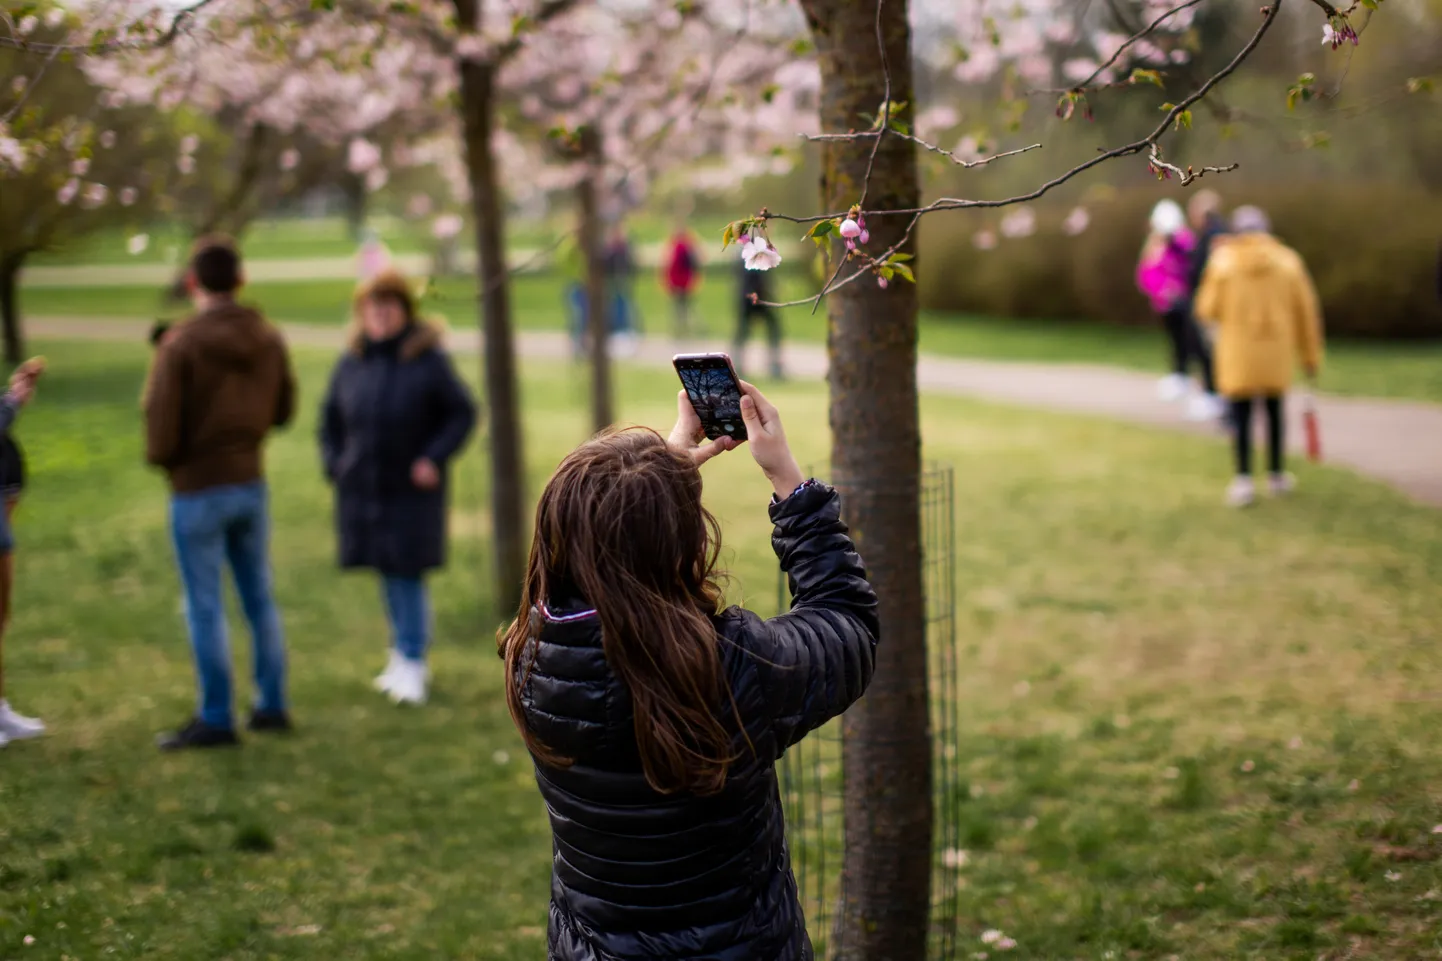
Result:
<svg viewBox="0 0 1442 961">
<path fill-rule="evenodd" d="M 508 123 L 531 136 L 534 182 L 572 186 L 590 322 L 591 423 L 614 420 L 603 219 L 660 177 L 715 186 L 748 169 L 789 169 L 815 128 L 818 78 L 803 23 L 786 7 L 649 0 L 583 7 L 555 22 L 508 72 Z M 551 150 L 542 150 L 548 140 Z"/>
</svg>

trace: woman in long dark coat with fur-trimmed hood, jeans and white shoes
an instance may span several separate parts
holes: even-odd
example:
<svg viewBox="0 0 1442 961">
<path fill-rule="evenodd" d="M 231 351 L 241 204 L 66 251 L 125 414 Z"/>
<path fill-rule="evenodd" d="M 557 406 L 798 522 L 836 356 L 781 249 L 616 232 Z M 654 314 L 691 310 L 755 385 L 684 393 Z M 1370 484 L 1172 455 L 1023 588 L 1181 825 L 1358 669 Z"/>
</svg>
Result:
<svg viewBox="0 0 1442 961">
<path fill-rule="evenodd" d="M 446 563 L 446 468 L 476 426 L 476 404 L 386 271 L 355 297 L 350 345 L 322 405 L 320 450 L 336 491 L 340 566 L 381 573 L 391 661 L 375 680 L 397 703 L 425 701 L 425 573 Z"/>
</svg>

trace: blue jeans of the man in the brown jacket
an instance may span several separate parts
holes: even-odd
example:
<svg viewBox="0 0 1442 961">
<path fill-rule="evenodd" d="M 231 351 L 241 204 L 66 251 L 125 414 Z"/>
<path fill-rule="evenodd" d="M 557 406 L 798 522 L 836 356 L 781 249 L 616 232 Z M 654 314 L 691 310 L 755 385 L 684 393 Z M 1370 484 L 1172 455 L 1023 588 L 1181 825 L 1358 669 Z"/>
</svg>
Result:
<svg viewBox="0 0 1442 961">
<path fill-rule="evenodd" d="M 226 561 L 251 626 L 255 710 L 286 710 L 286 645 L 271 594 L 265 482 L 174 495 L 170 535 L 185 586 L 186 625 L 200 685 L 200 720 L 231 727 L 231 649 L 221 584 Z"/>
</svg>

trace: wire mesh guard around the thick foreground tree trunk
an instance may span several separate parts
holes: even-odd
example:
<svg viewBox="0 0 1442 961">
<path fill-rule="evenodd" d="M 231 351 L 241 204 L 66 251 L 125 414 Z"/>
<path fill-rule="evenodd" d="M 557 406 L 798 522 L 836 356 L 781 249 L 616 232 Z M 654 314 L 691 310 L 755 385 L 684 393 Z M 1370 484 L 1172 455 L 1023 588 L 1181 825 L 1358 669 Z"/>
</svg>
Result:
<svg viewBox="0 0 1442 961">
<path fill-rule="evenodd" d="M 927 957 L 959 957 L 957 861 L 962 857 L 959 759 L 960 684 L 956 654 L 956 527 L 950 465 L 929 463 L 921 475 L 921 577 L 932 724 L 932 910 Z M 786 576 L 777 583 L 777 607 L 790 606 Z M 782 758 L 780 789 L 786 841 L 806 926 L 816 958 L 835 958 L 845 844 L 842 724 L 835 720 Z"/>
</svg>

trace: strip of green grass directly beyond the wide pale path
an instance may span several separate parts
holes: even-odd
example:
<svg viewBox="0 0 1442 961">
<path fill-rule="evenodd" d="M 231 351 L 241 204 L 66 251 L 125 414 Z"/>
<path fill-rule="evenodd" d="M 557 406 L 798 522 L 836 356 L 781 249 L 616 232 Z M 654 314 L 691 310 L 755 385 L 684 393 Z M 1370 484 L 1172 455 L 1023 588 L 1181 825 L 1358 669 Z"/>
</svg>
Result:
<svg viewBox="0 0 1442 961">
<path fill-rule="evenodd" d="M 711 271 L 696 296 L 696 312 L 711 333 L 731 336 L 735 325 L 734 277 Z M 782 274 L 779 294 L 800 299 L 815 289 L 802 271 Z M 448 277 L 433 284 L 427 309 L 453 325 L 473 323 L 474 283 Z M 248 296 L 277 320 L 342 323 L 349 313 L 353 284 L 346 280 L 257 283 Z M 521 274 L 512 284 L 518 329 L 559 330 L 567 323 L 562 284 L 552 274 Z M 671 329 L 671 304 L 659 284 L 643 271 L 636 302 L 647 332 Z M 29 287 L 22 306 L 30 316 L 174 316 L 177 306 L 162 303 L 149 287 Z M 825 310 L 784 312 L 786 335 L 820 343 L 826 339 Z M 758 332 L 757 332 L 758 336 Z M 1139 371 L 1165 369 L 1167 346 L 1159 328 L 1119 328 L 1082 322 L 1007 320 L 929 313 L 921 317 L 921 351 L 942 356 L 989 361 L 1103 364 Z M 1322 388 L 1355 397 L 1393 397 L 1442 403 L 1442 342 L 1380 343 L 1341 341 L 1328 348 Z"/>
</svg>

